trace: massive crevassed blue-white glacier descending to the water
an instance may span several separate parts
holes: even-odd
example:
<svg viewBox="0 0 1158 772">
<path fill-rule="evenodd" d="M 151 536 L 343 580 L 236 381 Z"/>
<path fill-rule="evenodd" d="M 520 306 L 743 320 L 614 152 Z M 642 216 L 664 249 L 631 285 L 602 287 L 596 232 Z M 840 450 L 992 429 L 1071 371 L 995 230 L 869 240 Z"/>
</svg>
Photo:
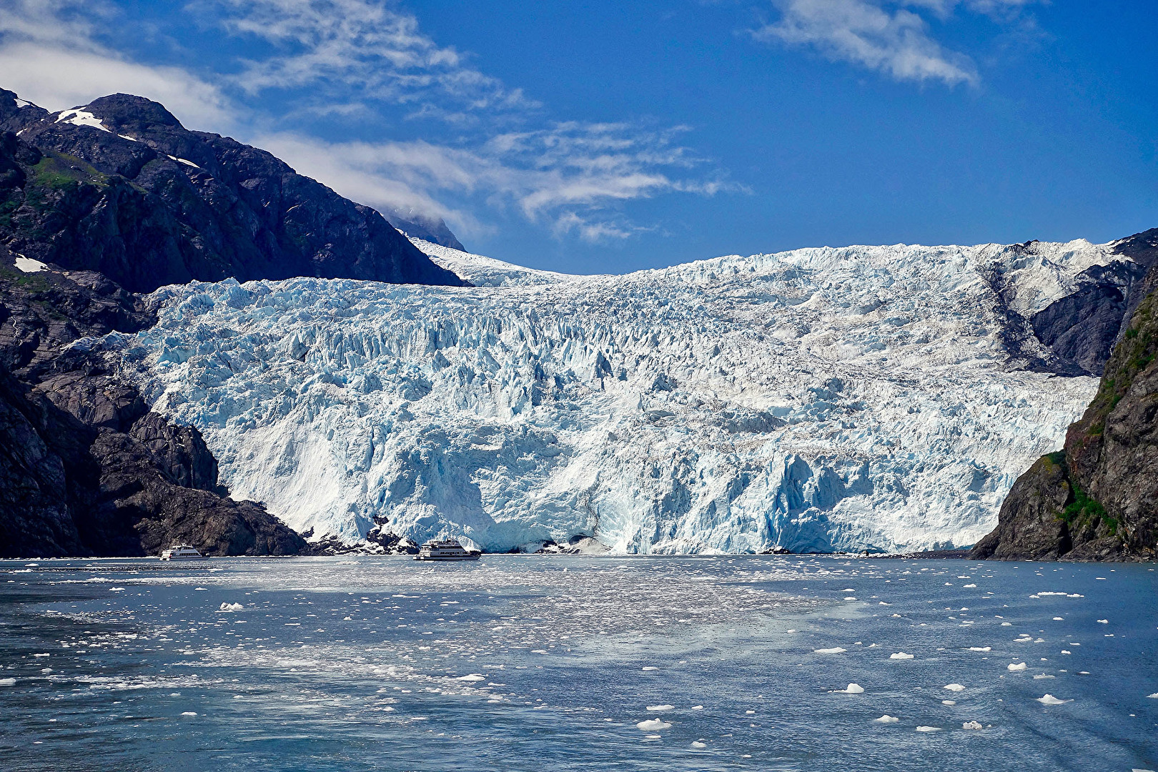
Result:
<svg viewBox="0 0 1158 772">
<path fill-rule="evenodd" d="M 946 547 L 1097 385 L 1027 369 L 1010 310 L 1124 259 L 851 247 L 573 277 L 419 245 L 488 286 L 166 287 L 156 326 L 104 345 L 235 498 L 315 538 L 384 519 L 492 551 Z"/>
</svg>

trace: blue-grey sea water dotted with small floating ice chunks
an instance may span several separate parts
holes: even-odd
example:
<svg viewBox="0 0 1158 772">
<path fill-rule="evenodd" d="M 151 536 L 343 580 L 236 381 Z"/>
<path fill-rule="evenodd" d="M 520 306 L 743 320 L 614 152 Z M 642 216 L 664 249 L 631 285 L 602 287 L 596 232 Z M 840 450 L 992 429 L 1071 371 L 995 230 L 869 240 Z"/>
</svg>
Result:
<svg viewBox="0 0 1158 772">
<path fill-rule="evenodd" d="M 22 771 L 1156 770 L 1158 573 L 6 560 L 0 716 Z"/>
</svg>

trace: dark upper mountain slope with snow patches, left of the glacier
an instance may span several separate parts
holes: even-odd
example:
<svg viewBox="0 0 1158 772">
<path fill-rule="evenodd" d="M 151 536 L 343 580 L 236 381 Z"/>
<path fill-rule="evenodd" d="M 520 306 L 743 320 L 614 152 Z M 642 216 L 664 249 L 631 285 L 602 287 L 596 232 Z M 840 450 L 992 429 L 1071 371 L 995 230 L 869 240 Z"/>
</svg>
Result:
<svg viewBox="0 0 1158 772">
<path fill-rule="evenodd" d="M 116 94 L 49 113 L 0 90 L 0 243 L 132 292 L 193 279 L 464 282 L 273 155 Z M 19 135 L 17 135 L 19 134 Z"/>
</svg>

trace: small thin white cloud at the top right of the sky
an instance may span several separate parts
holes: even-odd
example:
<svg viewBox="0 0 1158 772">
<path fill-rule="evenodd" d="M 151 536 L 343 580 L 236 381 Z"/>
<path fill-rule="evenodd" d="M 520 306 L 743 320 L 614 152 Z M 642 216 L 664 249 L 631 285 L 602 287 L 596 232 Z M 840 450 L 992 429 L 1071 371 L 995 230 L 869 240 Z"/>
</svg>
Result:
<svg viewBox="0 0 1158 772">
<path fill-rule="evenodd" d="M 919 12 L 945 20 L 957 8 L 1012 20 L 1035 0 L 772 0 L 779 21 L 753 31 L 756 39 L 807 45 L 901 81 L 976 86 L 973 60 L 946 49 Z M 892 7 L 889 7 L 892 6 Z"/>
</svg>

